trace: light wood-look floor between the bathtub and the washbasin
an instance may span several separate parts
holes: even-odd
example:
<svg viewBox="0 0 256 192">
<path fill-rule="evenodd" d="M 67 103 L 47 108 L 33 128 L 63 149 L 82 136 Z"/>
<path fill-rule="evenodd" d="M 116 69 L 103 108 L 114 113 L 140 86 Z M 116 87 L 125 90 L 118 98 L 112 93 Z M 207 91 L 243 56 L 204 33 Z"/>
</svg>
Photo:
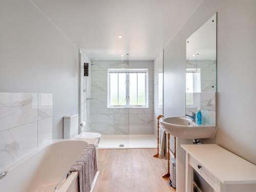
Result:
<svg viewBox="0 0 256 192">
<path fill-rule="evenodd" d="M 167 161 L 155 149 L 99 150 L 99 177 L 94 192 L 176 191 L 162 178 Z"/>
</svg>

